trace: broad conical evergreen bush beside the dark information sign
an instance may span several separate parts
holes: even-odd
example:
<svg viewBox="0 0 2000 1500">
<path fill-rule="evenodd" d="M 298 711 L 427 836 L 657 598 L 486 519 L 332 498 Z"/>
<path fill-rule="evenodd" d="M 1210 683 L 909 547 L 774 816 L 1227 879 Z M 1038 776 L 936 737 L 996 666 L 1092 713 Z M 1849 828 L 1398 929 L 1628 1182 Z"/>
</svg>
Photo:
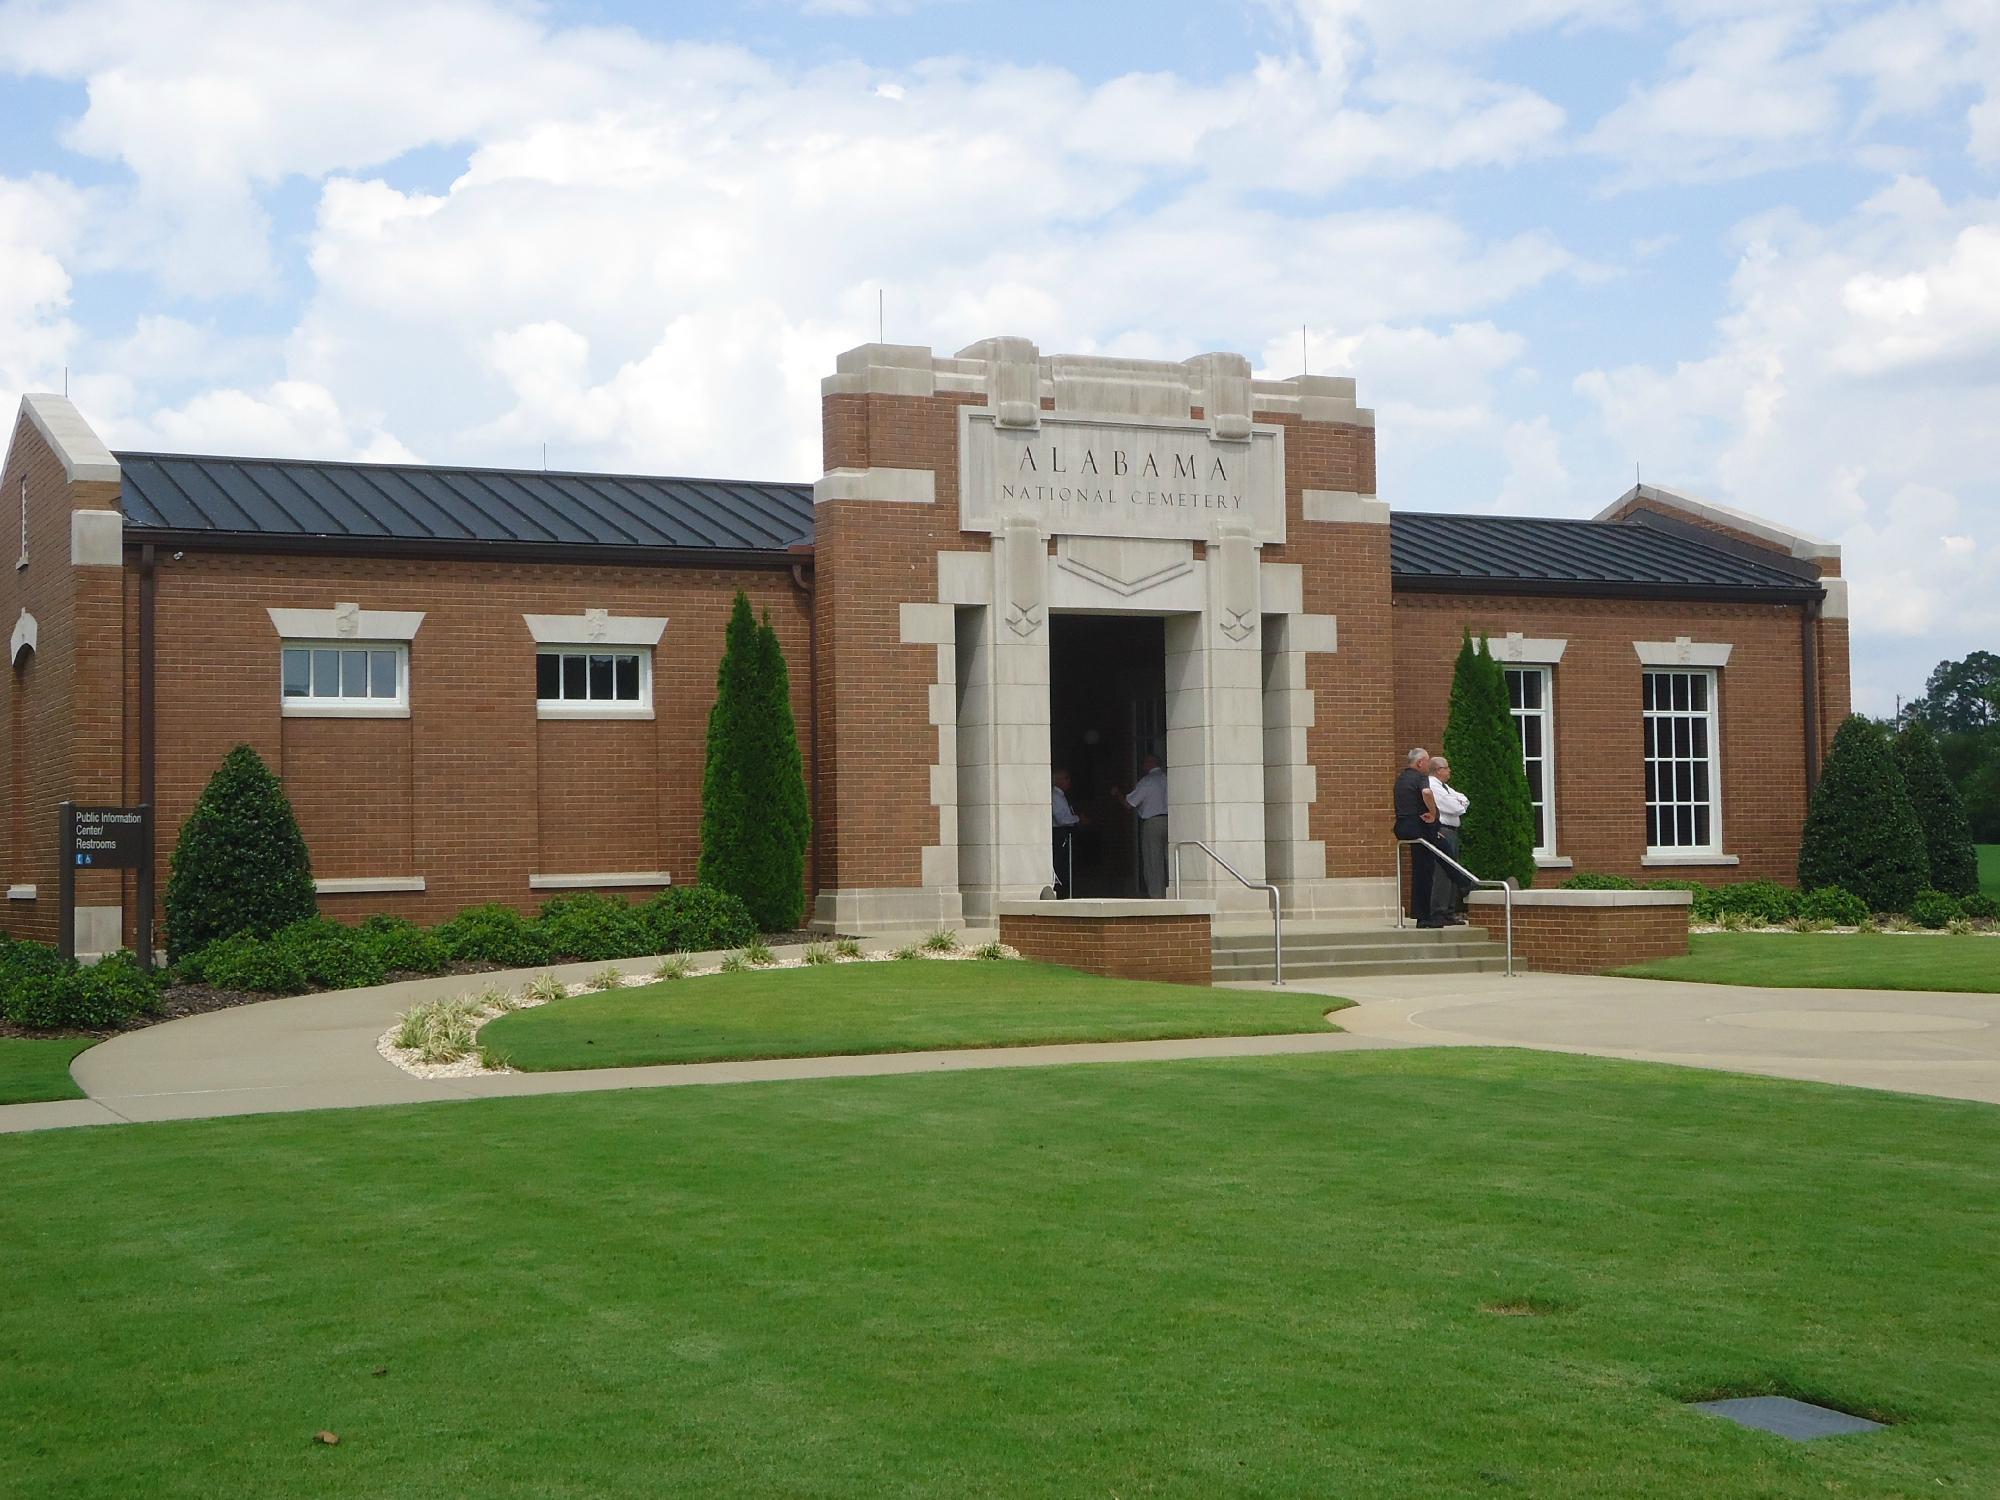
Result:
<svg viewBox="0 0 2000 1500">
<path fill-rule="evenodd" d="M 284 786 L 240 744 L 208 778 L 180 826 L 166 880 L 166 952 L 200 952 L 216 938 L 268 938 L 316 916 L 312 860 Z"/>
</svg>

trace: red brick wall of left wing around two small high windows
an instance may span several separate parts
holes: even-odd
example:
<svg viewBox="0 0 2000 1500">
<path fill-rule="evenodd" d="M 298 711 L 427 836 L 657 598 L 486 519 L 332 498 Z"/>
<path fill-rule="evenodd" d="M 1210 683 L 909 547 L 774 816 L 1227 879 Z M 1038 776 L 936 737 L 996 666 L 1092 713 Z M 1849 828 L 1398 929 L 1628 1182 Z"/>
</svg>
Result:
<svg viewBox="0 0 2000 1500">
<path fill-rule="evenodd" d="M 62 562 L 68 570 L 66 524 Z M 118 580 L 116 570 L 96 572 Z M 124 584 L 122 634 L 116 614 L 106 630 L 126 664 L 124 692 L 110 694 L 118 728 L 104 740 L 112 746 L 112 776 L 92 794 L 106 802 L 138 796 L 136 570 L 130 566 Z M 238 742 L 256 748 L 284 778 L 316 876 L 420 874 L 426 880 L 422 894 L 322 898 L 324 910 L 340 918 L 392 910 L 436 922 L 486 900 L 532 910 L 550 892 L 530 892 L 530 874 L 668 870 L 676 882 L 692 882 L 708 708 L 738 588 L 778 630 L 792 672 L 800 752 L 810 766 L 810 600 L 794 588 L 786 568 L 194 550 L 176 562 L 162 554 L 156 604 L 162 894 L 180 824 Z M 356 600 L 364 610 L 426 612 L 410 644 L 410 718 L 280 714 L 280 638 L 266 608 L 332 608 L 342 600 Z M 654 652 L 654 720 L 536 716 L 534 640 L 522 614 L 582 614 L 586 608 L 668 618 Z M 44 626 L 44 646 L 52 644 Z M 46 654 L 56 660 L 54 650 Z M 64 706 L 60 712 L 74 710 Z M 54 728 L 34 732 L 50 744 L 60 742 Z M 52 772 L 42 774 L 54 780 Z M 46 822 L 52 830 L 52 812 Z M 42 882 L 48 900 L 38 906 L 48 912 L 48 932 L 38 936 L 52 936 L 52 838 L 46 850 L 30 850 L 16 864 L 28 874 L 12 878 Z M 130 900 L 126 906 L 130 912 Z M 12 930 L 30 930 L 22 914 L 8 916 Z"/>
</svg>

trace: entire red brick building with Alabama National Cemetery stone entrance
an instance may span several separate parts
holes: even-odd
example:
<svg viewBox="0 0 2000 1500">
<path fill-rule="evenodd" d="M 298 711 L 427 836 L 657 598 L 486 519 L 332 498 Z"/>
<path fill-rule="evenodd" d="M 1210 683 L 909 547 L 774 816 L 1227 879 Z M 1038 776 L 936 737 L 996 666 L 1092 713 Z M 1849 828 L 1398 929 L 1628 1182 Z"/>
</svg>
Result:
<svg viewBox="0 0 2000 1500">
<path fill-rule="evenodd" d="M 158 872 L 222 754 L 284 776 L 336 916 L 692 878 L 736 590 L 792 664 L 808 880 L 844 930 L 1132 888 L 1114 800 L 1308 916 L 1392 910 L 1386 784 L 1460 632 L 1516 696 L 1550 868 L 1788 878 L 1848 710 L 1838 552 L 1638 486 L 1596 520 L 1390 514 L 1344 378 L 870 344 L 816 484 L 112 454 L 28 396 L 4 486 L 6 928 L 56 930 L 56 804 L 150 802 Z M 1794 788 L 1770 796 L 1772 782 Z M 1200 862 L 1188 894 L 1254 904 Z M 78 876 L 78 946 L 134 932 Z"/>
</svg>

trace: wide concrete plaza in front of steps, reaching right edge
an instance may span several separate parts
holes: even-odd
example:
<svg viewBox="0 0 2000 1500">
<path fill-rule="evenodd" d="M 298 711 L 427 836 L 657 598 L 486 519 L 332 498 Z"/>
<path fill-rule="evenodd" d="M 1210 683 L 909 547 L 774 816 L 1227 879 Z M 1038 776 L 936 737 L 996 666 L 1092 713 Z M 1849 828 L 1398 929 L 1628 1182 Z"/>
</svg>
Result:
<svg viewBox="0 0 2000 1500">
<path fill-rule="evenodd" d="M 1356 1000 L 1340 1026 L 1402 1046 L 1530 1046 L 2000 1104 L 2000 994 L 1754 990 L 1584 974 L 1288 988 Z"/>
</svg>

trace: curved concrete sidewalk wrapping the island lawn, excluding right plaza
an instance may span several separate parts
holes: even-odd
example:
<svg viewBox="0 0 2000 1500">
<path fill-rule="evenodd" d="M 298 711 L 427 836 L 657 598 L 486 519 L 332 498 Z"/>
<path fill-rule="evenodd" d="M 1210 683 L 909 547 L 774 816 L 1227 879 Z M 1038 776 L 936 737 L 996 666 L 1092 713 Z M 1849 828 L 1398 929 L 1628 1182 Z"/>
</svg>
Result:
<svg viewBox="0 0 2000 1500">
<path fill-rule="evenodd" d="M 780 950 L 790 952 L 790 950 Z M 658 960 L 618 964 L 646 978 Z M 140 1120 L 198 1120 L 224 1114 L 334 1110 L 368 1104 L 430 1104 L 514 1094 L 578 1094 L 610 1088 L 752 1084 L 798 1078 L 1046 1068 L 1074 1062 L 1164 1062 L 1254 1058 L 1278 1052 L 1344 1052 L 1396 1042 L 1346 1032 L 1290 1036 L 1206 1036 L 1160 1042 L 1070 1042 L 1056 1046 L 870 1052 L 756 1062 L 682 1062 L 654 1068 L 414 1078 L 382 1058 L 376 1042 L 420 1000 L 464 994 L 486 982 L 522 984 L 554 972 L 584 980 L 604 964 L 558 964 L 512 974 L 410 980 L 370 990 L 336 990 L 188 1016 L 114 1036 L 82 1052 L 70 1074 L 88 1094 L 54 1104 L 0 1106 L 0 1132 L 50 1130 Z"/>
</svg>

